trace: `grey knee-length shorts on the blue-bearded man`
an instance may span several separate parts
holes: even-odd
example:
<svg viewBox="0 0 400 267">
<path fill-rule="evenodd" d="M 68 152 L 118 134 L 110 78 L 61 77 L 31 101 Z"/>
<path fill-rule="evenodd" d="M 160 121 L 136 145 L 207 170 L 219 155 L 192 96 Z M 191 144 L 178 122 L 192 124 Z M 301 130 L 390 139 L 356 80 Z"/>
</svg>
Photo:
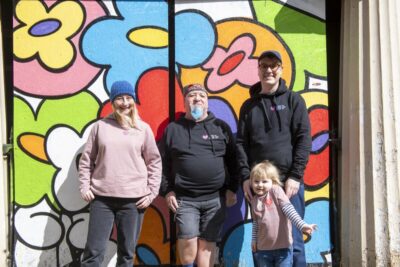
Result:
<svg viewBox="0 0 400 267">
<path fill-rule="evenodd" d="M 225 198 L 204 201 L 178 200 L 175 215 L 178 239 L 199 237 L 208 242 L 220 240 L 225 220 Z"/>
</svg>

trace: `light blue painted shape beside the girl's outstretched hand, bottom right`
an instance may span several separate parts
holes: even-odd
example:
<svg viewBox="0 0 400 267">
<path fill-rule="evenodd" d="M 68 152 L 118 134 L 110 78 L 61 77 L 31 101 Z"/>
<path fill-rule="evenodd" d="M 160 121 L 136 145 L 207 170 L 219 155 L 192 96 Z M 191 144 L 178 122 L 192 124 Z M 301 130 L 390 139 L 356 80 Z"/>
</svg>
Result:
<svg viewBox="0 0 400 267">
<path fill-rule="evenodd" d="M 319 200 L 307 205 L 304 220 L 318 225 L 318 230 L 305 244 L 307 263 L 323 263 L 321 253 L 331 250 L 329 201 Z"/>
</svg>

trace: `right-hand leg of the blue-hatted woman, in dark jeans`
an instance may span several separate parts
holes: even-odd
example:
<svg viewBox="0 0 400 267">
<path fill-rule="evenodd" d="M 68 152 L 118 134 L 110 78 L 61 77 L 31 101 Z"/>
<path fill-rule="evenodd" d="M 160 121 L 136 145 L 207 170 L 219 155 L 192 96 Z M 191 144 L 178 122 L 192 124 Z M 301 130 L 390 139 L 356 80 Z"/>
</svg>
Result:
<svg viewBox="0 0 400 267">
<path fill-rule="evenodd" d="M 144 210 L 136 208 L 135 200 L 117 200 L 119 204 L 115 214 L 117 226 L 118 267 L 132 267 L 135 248 L 142 229 Z"/>
</svg>

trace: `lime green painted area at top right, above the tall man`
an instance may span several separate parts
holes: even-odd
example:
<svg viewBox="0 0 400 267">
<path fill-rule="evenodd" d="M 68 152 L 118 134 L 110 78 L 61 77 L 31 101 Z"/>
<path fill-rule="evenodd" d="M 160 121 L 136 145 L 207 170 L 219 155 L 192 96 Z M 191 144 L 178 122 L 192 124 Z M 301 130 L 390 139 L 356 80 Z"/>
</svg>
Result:
<svg viewBox="0 0 400 267">
<path fill-rule="evenodd" d="M 294 91 L 305 89 L 305 70 L 327 76 L 324 21 L 273 1 L 253 1 L 253 6 L 257 20 L 274 29 L 293 54 Z"/>
</svg>

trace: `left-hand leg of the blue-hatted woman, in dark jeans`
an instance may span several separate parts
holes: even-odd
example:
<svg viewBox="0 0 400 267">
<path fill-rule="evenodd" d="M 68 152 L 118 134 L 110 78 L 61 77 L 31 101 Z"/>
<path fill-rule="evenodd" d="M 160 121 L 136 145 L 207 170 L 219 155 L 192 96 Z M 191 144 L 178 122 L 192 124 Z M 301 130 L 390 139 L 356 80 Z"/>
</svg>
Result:
<svg viewBox="0 0 400 267">
<path fill-rule="evenodd" d="M 108 202 L 95 198 L 90 203 L 89 231 L 81 267 L 101 265 L 114 223 L 114 213 Z"/>
</svg>

